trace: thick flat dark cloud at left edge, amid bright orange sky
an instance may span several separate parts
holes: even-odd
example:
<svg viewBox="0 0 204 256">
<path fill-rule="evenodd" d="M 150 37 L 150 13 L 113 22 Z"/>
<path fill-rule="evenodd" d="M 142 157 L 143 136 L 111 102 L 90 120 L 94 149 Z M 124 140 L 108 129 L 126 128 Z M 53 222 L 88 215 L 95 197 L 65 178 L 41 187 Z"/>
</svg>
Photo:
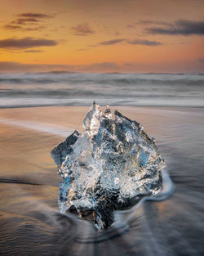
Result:
<svg viewBox="0 0 204 256">
<path fill-rule="evenodd" d="M 51 47 L 58 43 L 54 40 L 44 38 L 7 38 L 0 40 L 0 48 L 4 49 L 26 49 L 33 47 Z"/>
</svg>

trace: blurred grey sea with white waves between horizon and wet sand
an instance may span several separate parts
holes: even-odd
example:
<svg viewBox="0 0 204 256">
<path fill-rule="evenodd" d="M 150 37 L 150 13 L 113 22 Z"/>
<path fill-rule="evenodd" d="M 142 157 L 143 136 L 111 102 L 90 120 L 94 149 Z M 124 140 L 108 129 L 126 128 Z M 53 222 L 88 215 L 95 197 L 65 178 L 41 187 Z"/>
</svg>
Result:
<svg viewBox="0 0 204 256">
<path fill-rule="evenodd" d="M 102 104 L 110 99 L 113 102 L 123 99 L 123 105 L 135 105 L 137 102 L 141 104 L 143 99 L 147 105 L 204 106 L 200 102 L 204 99 L 203 88 L 204 76 L 201 74 L 0 74 L 0 99 L 9 99 L 9 102 L 11 99 L 20 101 L 23 98 L 29 101 L 31 98 L 45 98 L 59 99 L 59 105 L 64 99 L 78 105 L 81 101 L 86 102 L 86 99 L 100 99 L 100 102 L 103 99 Z M 148 102 L 147 99 L 155 99 L 155 102 Z M 186 102 L 178 102 L 178 99 L 185 99 Z M 43 101 L 40 104 L 46 106 Z M 11 105 L 15 106 L 15 102 Z M 20 104 L 23 105 L 27 106 L 28 103 Z"/>
</svg>

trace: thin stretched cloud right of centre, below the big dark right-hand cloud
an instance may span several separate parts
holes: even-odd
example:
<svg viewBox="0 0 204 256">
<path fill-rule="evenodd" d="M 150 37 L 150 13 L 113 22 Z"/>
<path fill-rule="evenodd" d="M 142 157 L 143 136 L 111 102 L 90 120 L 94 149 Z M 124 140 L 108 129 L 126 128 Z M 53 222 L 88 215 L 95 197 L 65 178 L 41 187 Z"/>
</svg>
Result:
<svg viewBox="0 0 204 256">
<path fill-rule="evenodd" d="M 99 47 L 101 45 L 108 46 L 108 45 L 114 45 L 118 43 L 137 44 L 137 45 L 146 45 L 146 46 L 157 46 L 162 44 L 157 41 L 141 40 L 137 38 L 119 38 L 119 39 L 113 39 L 108 41 L 102 41 L 94 45 L 91 45 L 91 47 Z"/>
</svg>

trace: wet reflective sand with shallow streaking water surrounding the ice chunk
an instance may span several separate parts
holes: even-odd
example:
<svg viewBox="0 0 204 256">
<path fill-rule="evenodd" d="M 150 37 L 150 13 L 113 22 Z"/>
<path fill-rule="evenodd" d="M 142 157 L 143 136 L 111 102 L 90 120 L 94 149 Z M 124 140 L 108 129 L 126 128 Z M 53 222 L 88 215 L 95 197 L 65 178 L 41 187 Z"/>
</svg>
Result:
<svg viewBox="0 0 204 256">
<path fill-rule="evenodd" d="M 117 107 L 155 137 L 175 183 L 171 198 L 146 201 L 98 232 L 58 209 L 51 149 L 77 128 L 88 108 L 0 110 L 1 255 L 203 255 L 204 110 Z"/>
</svg>

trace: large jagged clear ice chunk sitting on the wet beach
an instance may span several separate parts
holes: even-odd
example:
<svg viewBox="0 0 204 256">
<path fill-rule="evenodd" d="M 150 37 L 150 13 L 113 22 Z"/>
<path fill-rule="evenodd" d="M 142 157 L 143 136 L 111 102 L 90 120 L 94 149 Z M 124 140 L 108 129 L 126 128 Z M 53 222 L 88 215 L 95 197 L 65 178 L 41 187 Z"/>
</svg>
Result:
<svg viewBox="0 0 204 256">
<path fill-rule="evenodd" d="M 164 161 L 143 126 L 95 102 L 82 124 L 51 150 L 60 176 L 61 212 L 75 210 L 97 229 L 110 227 L 115 210 L 128 209 L 162 188 Z"/>
</svg>

